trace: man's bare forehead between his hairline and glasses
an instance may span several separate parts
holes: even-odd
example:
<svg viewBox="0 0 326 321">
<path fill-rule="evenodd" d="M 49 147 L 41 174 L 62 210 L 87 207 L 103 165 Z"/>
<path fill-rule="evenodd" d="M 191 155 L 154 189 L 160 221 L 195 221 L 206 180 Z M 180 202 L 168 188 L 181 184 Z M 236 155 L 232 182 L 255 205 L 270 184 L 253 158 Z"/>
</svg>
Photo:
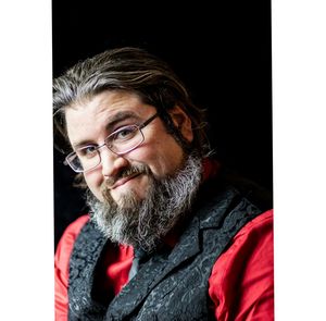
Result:
<svg viewBox="0 0 326 321">
<path fill-rule="evenodd" d="M 67 135 L 71 143 L 82 139 L 93 139 L 101 133 L 110 131 L 110 126 L 125 119 L 142 119 L 149 109 L 154 109 L 142 102 L 134 94 L 121 90 L 100 92 L 70 106 L 65 110 Z"/>
</svg>

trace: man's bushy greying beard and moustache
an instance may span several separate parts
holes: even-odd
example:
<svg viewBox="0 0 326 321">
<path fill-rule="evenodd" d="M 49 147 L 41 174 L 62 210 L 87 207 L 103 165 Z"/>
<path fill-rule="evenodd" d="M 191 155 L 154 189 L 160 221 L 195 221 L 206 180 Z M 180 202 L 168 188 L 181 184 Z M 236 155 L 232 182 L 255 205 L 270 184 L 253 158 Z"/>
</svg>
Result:
<svg viewBox="0 0 326 321">
<path fill-rule="evenodd" d="M 105 237 L 151 252 L 190 210 L 201 182 L 201 159 L 187 156 L 176 174 L 164 178 L 155 177 L 145 164 L 122 171 L 120 177 L 135 173 L 149 177 L 145 199 L 130 190 L 117 205 L 106 187 L 102 190 L 104 201 L 99 201 L 88 190 L 87 203 L 91 220 Z"/>
</svg>

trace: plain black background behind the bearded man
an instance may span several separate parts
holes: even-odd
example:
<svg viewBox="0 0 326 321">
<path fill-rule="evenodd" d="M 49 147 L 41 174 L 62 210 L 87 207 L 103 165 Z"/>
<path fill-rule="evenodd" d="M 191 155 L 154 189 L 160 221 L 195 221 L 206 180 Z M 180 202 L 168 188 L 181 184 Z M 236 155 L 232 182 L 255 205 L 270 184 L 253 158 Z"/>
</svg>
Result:
<svg viewBox="0 0 326 321">
<path fill-rule="evenodd" d="M 166 60 L 208 110 L 216 157 L 273 188 L 271 2 L 52 2 L 53 77 L 105 49 L 138 46 Z M 54 242 L 87 211 L 54 150 Z"/>
</svg>

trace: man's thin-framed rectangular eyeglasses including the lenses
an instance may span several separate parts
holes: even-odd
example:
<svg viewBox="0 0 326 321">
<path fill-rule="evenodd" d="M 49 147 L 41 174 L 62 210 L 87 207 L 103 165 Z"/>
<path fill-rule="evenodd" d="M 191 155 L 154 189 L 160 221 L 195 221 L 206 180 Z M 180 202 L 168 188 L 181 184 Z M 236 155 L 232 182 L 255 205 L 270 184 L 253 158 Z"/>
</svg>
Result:
<svg viewBox="0 0 326 321">
<path fill-rule="evenodd" d="M 93 170 L 101 163 L 99 149 L 103 146 L 106 146 L 112 152 L 120 156 L 136 149 L 145 140 L 141 129 L 158 115 L 159 114 L 155 113 L 140 125 L 128 125 L 118 128 L 111 133 L 104 139 L 104 144 L 100 146 L 87 145 L 78 148 L 65 158 L 64 164 L 70 165 L 76 173 L 85 173 Z"/>
</svg>

